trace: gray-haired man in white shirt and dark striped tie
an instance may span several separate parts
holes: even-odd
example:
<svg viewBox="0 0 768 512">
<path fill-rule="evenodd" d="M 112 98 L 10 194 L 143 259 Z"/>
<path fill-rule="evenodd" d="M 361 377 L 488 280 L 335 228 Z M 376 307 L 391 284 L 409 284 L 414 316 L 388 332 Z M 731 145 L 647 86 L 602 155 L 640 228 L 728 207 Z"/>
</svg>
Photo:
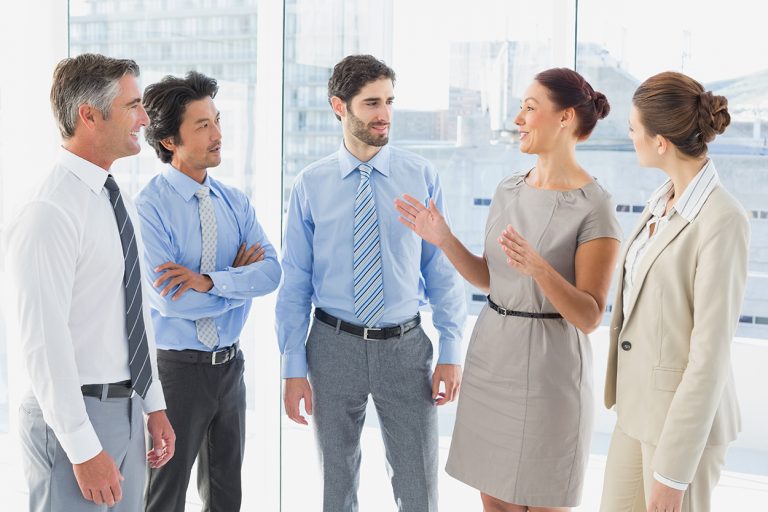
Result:
<svg viewBox="0 0 768 512">
<path fill-rule="evenodd" d="M 148 123 L 132 60 L 64 59 L 51 104 L 59 161 L 8 231 L 21 347 L 31 392 L 20 412 L 33 512 L 139 510 L 144 417 L 165 464 L 175 437 L 141 290 L 133 205 L 110 174 L 139 152 Z"/>
</svg>

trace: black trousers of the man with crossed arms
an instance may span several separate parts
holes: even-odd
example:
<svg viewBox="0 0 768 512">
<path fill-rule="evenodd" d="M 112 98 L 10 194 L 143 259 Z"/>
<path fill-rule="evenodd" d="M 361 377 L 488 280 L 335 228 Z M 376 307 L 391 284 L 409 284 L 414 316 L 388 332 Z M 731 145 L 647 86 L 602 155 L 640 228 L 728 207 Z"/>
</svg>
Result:
<svg viewBox="0 0 768 512">
<path fill-rule="evenodd" d="M 163 357 L 157 367 L 168 419 L 176 432 L 176 455 L 150 469 L 147 512 L 183 512 L 192 465 L 197 459 L 197 489 L 204 512 L 237 512 L 245 451 L 245 381 L 242 352 L 212 366 Z"/>
</svg>

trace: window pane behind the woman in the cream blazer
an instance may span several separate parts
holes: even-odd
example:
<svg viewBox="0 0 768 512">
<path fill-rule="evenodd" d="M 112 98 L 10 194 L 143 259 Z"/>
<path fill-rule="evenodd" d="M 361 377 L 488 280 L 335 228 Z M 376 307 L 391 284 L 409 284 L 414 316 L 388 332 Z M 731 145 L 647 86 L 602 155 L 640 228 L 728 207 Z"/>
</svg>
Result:
<svg viewBox="0 0 768 512">
<path fill-rule="evenodd" d="M 579 2 L 577 70 L 608 96 L 611 113 L 588 144 L 577 146 L 578 157 L 613 194 L 625 235 L 666 179 L 661 171 L 637 164 L 628 138 L 637 86 L 651 75 L 674 70 L 728 99 L 731 124 L 709 145 L 709 153 L 722 183 L 751 216 L 752 240 L 746 298 L 732 347 L 742 433 L 728 452 L 713 510 L 757 509 L 757 503 L 768 503 L 768 416 L 762 391 L 755 388 L 768 364 L 768 325 L 763 321 L 768 316 L 768 223 L 762 215 L 768 197 L 768 67 L 766 46 L 756 37 L 764 30 L 762 19 L 746 0 L 716 10 L 689 1 Z M 613 293 L 609 297 L 612 302 Z M 595 346 L 600 361 L 605 346 Z M 613 416 L 597 411 L 593 453 L 606 452 Z"/>
</svg>

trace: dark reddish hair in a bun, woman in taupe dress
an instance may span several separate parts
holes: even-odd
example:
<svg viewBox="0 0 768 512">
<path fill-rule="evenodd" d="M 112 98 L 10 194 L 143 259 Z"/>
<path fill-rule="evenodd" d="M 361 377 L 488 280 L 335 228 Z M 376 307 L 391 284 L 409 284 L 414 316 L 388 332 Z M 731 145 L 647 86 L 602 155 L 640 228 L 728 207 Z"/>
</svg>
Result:
<svg viewBox="0 0 768 512">
<path fill-rule="evenodd" d="M 605 94 L 595 91 L 584 77 L 572 69 L 552 68 L 534 79 L 549 90 L 549 99 L 560 109 L 576 111 L 576 136 L 586 138 L 595 129 L 598 119 L 611 111 Z"/>
</svg>

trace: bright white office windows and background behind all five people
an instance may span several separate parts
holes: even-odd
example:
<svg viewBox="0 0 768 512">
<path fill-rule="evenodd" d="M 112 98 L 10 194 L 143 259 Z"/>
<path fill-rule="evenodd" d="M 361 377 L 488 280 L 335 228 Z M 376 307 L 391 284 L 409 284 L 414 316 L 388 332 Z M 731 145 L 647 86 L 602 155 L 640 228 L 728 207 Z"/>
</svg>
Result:
<svg viewBox="0 0 768 512">
<path fill-rule="evenodd" d="M 496 184 L 533 160 L 518 149 L 514 117 L 540 70 L 567 66 L 605 93 L 611 113 L 578 147 L 580 163 L 608 189 L 625 233 L 637 222 L 658 170 L 637 165 L 627 136 L 634 89 L 678 70 L 729 100 L 732 124 L 710 153 L 725 186 L 751 216 L 746 298 L 733 342 L 743 431 L 715 491 L 715 510 L 768 510 L 768 8 L 751 0 L 40 0 L 0 7 L 0 231 L 55 160 L 59 137 L 48 102 L 53 68 L 85 52 L 135 59 L 142 86 L 196 69 L 219 80 L 223 161 L 211 172 L 243 189 L 279 245 L 294 178 L 335 151 L 341 129 L 328 106 L 331 68 L 371 53 L 397 73 L 392 144 L 431 160 L 453 228 L 482 252 Z M 144 145 L 114 166 L 135 194 L 161 164 Z M 0 284 L 5 282 L 0 246 Z M 2 287 L 3 290 L 5 287 Z M 611 301 L 613 293 L 611 293 Z M 470 317 L 484 296 L 466 287 Z M 614 415 L 602 408 L 609 303 L 592 336 L 595 432 L 580 511 L 597 510 Z M 0 503 L 24 510 L 18 400 L 26 389 L 12 305 L 0 300 Z M 429 317 L 429 312 L 425 312 Z M 242 344 L 248 437 L 243 510 L 320 510 L 311 429 L 282 414 L 274 294 L 254 301 Z M 427 322 L 429 324 L 429 322 Z M 434 330 L 428 332 L 434 334 Z M 433 336 L 436 340 L 436 336 Z M 466 345 L 465 345 L 466 348 Z M 361 510 L 395 510 L 375 410 L 363 435 Z M 455 404 L 442 407 L 441 464 Z M 194 481 L 194 479 L 193 479 Z M 194 487 L 194 484 L 193 484 Z M 441 510 L 479 510 L 474 490 L 440 475 Z M 191 488 L 188 510 L 199 510 Z M 197 507 L 197 508 L 196 508 Z"/>
</svg>

